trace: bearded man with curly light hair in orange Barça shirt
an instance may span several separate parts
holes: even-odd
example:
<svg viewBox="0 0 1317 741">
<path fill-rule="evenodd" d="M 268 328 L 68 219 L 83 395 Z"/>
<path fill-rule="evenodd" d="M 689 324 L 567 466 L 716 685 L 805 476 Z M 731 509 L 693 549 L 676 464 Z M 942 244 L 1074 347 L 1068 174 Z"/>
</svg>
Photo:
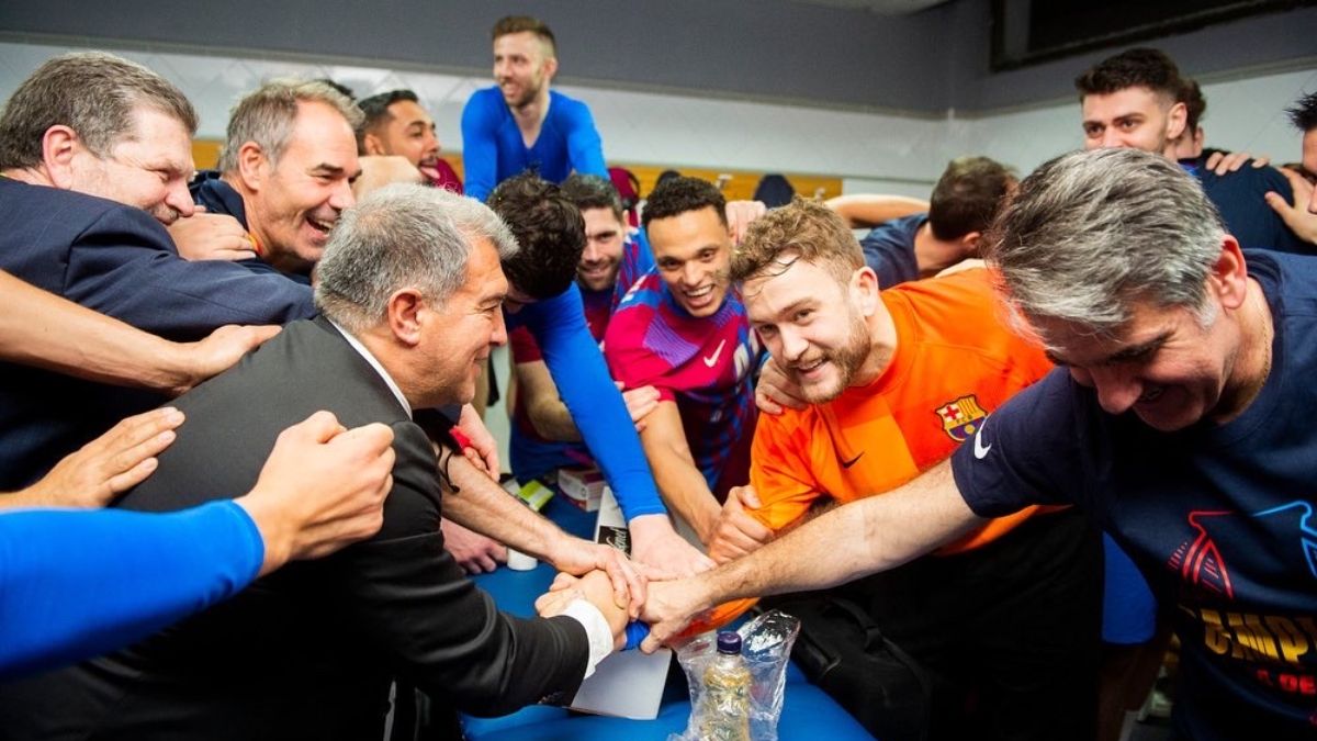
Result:
<svg viewBox="0 0 1317 741">
<path fill-rule="evenodd" d="M 753 223 L 732 278 L 751 326 L 809 402 L 759 421 L 752 490 L 728 498 L 711 546 L 734 555 L 811 510 L 914 479 L 1051 369 L 1040 348 L 1000 323 L 986 270 L 880 294 L 849 228 L 822 204 L 797 200 Z M 803 618 L 802 639 L 831 646 L 843 667 L 867 666 L 865 629 L 913 657 L 931 684 L 922 721 L 930 738 L 985 729 L 1085 738 L 1096 709 L 1100 564 L 1096 531 L 1077 513 L 1027 508 L 889 574 L 797 597 L 789 612 Z M 840 674 L 824 676 L 823 688 L 876 736 L 921 725 L 896 726 L 898 713 L 876 700 L 901 690 L 880 690 L 863 672 L 838 682 Z"/>
</svg>

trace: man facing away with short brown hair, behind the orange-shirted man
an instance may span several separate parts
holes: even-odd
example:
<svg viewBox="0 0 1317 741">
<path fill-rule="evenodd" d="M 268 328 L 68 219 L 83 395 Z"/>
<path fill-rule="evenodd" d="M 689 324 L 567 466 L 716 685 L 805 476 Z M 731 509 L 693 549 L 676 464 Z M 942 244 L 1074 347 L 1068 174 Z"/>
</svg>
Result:
<svg viewBox="0 0 1317 741">
<path fill-rule="evenodd" d="M 963 260 L 979 257 L 979 237 L 1014 186 L 1010 169 L 988 157 L 952 160 L 934 186 L 927 208 L 884 220 L 860 240 L 864 262 L 878 274 L 878 286 L 889 289 L 936 276 Z M 915 202 L 885 195 L 846 196 L 828 206 L 856 228 L 872 225 L 865 219 L 874 211 L 871 206 L 892 210 L 906 203 L 913 207 Z"/>
</svg>

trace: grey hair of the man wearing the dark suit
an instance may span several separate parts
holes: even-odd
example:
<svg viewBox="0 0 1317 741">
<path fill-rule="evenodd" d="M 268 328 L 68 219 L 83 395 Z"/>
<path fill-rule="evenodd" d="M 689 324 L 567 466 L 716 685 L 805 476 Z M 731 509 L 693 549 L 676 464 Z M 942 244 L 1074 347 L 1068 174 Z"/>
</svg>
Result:
<svg viewBox="0 0 1317 741">
<path fill-rule="evenodd" d="M 443 305 L 465 282 L 481 239 L 500 261 L 518 252 L 512 231 L 475 199 L 411 183 L 382 187 L 338 218 L 317 268 L 316 307 L 360 332 L 385 318 L 399 289 Z"/>
</svg>

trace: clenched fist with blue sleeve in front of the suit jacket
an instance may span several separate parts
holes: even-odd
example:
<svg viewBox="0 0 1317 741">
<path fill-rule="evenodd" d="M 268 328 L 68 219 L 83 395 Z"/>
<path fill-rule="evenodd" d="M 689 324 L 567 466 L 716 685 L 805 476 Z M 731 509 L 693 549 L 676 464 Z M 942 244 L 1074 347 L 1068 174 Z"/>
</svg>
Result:
<svg viewBox="0 0 1317 741">
<path fill-rule="evenodd" d="M 236 500 L 261 530 L 261 574 L 378 533 L 394 485 L 392 443 L 386 425 L 345 431 L 328 411 L 281 432 L 255 487 Z"/>
</svg>

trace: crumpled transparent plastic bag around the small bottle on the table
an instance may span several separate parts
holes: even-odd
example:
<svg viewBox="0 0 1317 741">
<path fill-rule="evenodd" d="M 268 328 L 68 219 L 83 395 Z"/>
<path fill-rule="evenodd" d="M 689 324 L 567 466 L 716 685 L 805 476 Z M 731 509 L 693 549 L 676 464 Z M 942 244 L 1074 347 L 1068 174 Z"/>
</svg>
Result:
<svg viewBox="0 0 1317 741">
<path fill-rule="evenodd" d="M 778 610 L 766 612 L 743 625 L 741 657 L 749 671 L 749 717 L 741 724 L 738 701 L 728 701 L 723 688 L 715 688 L 710 697 L 706 676 L 718 667 L 716 633 L 705 633 L 677 649 L 677 661 L 686 672 L 690 686 L 690 720 L 681 736 L 668 741 L 777 741 L 777 721 L 782 716 L 782 694 L 786 684 L 786 662 L 792 657 L 792 643 L 801 632 L 801 621 Z M 716 679 L 715 679 L 716 680 Z"/>
</svg>

